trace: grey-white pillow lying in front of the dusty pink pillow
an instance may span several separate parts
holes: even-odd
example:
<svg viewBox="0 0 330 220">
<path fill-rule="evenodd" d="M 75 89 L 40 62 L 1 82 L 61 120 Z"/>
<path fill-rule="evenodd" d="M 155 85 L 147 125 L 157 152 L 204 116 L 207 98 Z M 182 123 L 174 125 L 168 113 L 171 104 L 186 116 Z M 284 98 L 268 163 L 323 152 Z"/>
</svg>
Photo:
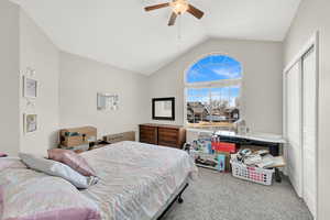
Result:
<svg viewBox="0 0 330 220">
<path fill-rule="evenodd" d="M 72 183 L 74 186 L 76 186 L 79 189 L 86 189 L 89 186 L 97 184 L 98 182 L 97 177 L 82 176 L 81 174 L 72 169 L 69 166 L 62 164 L 59 162 L 46 160 L 31 154 L 23 154 L 23 153 L 20 153 L 20 157 L 26 164 L 28 167 L 37 172 L 43 172 L 52 176 L 62 177 L 68 180 L 69 183 Z"/>
</svg>

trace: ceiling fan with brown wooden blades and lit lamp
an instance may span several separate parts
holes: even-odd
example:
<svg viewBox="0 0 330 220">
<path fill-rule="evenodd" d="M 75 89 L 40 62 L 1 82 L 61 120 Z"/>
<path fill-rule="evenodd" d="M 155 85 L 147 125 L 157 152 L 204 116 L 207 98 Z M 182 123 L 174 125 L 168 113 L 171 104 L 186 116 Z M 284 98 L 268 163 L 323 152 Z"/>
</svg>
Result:
<svg viewBox="0 0 330 220">
<path fill-rule="evenodd" d="M 169 21 L 168 21 L 168 26 L 174 25 L 176 18 L 178 15 L 182 15 L 185 12 L 189 12 L 197 19 L 201 19 L 204 15 L 204 12 L 200 11 L 199 9 L 193 7 L 191 4 L 189 4 L 188 0 L 173 0 L 172 2 L 146 7 L 146 8 L 144 8 L 144 10 L 152 11 L 152 10 L 162 9 L 162 8 L 166 8 L 166 7 L 170 7 L 173 10 Z"/>
</svg>

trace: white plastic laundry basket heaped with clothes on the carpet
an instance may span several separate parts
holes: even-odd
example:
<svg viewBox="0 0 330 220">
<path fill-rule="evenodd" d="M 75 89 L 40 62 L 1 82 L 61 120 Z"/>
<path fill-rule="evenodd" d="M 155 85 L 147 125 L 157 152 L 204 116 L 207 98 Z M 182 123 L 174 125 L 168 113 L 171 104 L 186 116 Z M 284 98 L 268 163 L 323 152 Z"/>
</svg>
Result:
<svg viewBox="0 0 330 220">
<path fill-rule="evenodd" d="M 246 166 L 237 161 L 231 161 L 232 175 L 237 178 L 254 182 L 257 184 L 272 185 L 273 174 L 275 169 L 264 169 L 258 167 Z"/>
</svg>

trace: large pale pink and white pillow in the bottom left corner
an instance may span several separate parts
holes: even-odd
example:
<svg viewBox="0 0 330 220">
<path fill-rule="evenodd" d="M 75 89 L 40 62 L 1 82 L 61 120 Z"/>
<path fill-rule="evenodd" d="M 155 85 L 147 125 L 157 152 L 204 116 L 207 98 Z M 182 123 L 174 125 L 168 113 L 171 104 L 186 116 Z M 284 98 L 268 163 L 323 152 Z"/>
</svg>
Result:
<svg viewBox="0 0 330 220">
<path fill-rule="evenodd" d="M 98 206 L 66 180 L 31 169 L 13 173 L 0 174 L 7 183 L 2 220 L 101 220 Z"/>
</svg>

